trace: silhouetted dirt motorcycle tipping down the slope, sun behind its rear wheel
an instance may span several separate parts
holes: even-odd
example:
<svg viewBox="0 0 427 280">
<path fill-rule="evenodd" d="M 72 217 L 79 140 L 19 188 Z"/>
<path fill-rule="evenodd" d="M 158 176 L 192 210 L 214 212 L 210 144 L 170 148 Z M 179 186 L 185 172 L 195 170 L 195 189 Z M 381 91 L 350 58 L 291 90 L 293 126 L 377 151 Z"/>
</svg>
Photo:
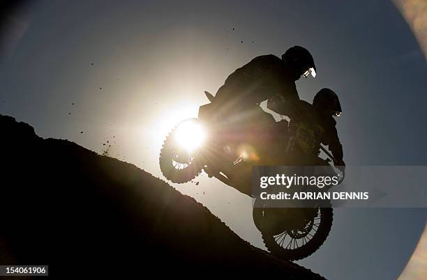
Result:
<svg viewBox="0 0 427 280">
<path fill-rule="evenodd" d="M 287 121 L 276 122 L 260 107 L 245 111 L 244 116 L 224 117 L 213 106 L 213 95 L 205 94 L 211 103 L 200 107 L 199 118 L 183 120 L 165 139 L 160 170 L 176 183 L 189 182 L 203 170 L 209 177 L 251 196 L 252 166 L 291 164 L 292 160 L 283 159 L 299 129 L 290 132 Z M 325 166 L 329 161 L 320 159 Z M 272 254 L 299 260 L 313 254 L 326 240 L 333 210 L 317 205 L 253 208 L 253 220 Z"/>
</svg>

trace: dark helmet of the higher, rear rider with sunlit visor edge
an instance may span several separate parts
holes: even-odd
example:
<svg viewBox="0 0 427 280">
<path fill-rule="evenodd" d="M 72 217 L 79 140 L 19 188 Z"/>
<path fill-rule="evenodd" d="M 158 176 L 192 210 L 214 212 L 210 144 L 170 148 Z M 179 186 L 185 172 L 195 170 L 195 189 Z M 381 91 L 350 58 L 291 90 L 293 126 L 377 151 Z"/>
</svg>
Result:
<svg viewBox="0 0 427 280">
<path fill-rule="evenodd" d="M 294 46 L 287 49 L 285 54 L 282 55 L 282 60 L 290 66 L 295 80 L 299 79 L 301 75 L 304 75 L 304 77 L 309 74 L 313 77 L 316 76 L 316 65 L 313 56 L 304 47 Z"/>
</svg>

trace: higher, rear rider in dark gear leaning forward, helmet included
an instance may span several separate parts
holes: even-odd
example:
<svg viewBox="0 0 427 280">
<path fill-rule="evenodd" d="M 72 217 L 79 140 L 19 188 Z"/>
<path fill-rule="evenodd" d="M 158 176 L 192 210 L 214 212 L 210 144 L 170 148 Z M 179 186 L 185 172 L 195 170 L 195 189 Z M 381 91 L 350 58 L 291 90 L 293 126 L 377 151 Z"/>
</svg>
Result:
<svg viewBox="0 0 427 280">
<path fill-rule="evenodd" d="M 218 113 L 236 114 L 280 95 L 283 106 L 292 110 L 292 104 L 299 102 L 295 81 L 301 75 L 315 77 L 315 71 L 313 56 L 304 47 L 287 49 L 281 59 L 272 54 L 257 56 L 227 77 L 213 103 Z"/>
</svg>

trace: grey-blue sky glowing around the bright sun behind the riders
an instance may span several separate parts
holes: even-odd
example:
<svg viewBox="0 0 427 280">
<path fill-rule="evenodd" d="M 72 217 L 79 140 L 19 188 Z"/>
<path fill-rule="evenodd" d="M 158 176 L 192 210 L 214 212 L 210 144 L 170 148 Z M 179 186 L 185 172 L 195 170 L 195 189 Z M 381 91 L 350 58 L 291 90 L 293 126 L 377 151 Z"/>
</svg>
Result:
<svg viewBox="0 0 427 280">
<path fill-rule="evenodd" d="M 161 141 L 197 115 L 203 91 L 255 56 L 302 45 L 318 75 L 297 81 L 299 95 L 338 93 L 347 164 L 427 162 L 426 59 L 390 1 L 40 1 L 25 11 L 0 64 L 0 114 L 42 137 L 98 152 L 109 141 L 110 155 L 161 177 Z M 246 196 L 205 176 L 174 187 L 263 246 Z M 337 209 L 329 239 L 301 263 L 328 279 L 395 279 L 426 213 Z"/>
</svg>

